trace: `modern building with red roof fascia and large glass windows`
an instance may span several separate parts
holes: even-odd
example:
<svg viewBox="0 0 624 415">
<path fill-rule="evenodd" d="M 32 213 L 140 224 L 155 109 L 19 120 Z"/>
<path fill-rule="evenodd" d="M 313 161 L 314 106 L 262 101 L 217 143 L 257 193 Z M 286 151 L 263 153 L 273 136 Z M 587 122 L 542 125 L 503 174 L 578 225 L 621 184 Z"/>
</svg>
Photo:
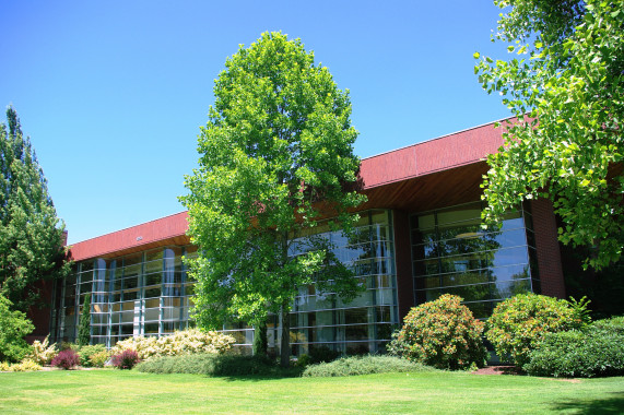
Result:
<svg viewBox="0 0 624 415">
<path fill-rule="evenodd" d="M 564 297 L 556 222 L 549 201 L 509 212 L 503 227 L 480 227 L 485 157 L 503 145 L 494 123 L 475 127 L 362 161 L 363 192 L 356 240 L 328 237 L 341 261 L 366 282 L 350 304 L 302 287 L 291 313 L 293 353 L 326 345 L 346 353 L 377 352 L 409 309 L 441 293 L 458 294 L 478 318 L 517 293 Z M 55 282 L 51 341 L 76 337 L 80 307 L 92 294 L 92 341 L 107 346 L 137 335 L 164 335 L 192 320 L 193 282 L 183 256 L 197 248 L 186 212 L 71 247 L 74 272 Z M 319 226 L 322 232 L 322 226 Z M 269 343 L 280 339 L 269 324 Z M 225 324 L 239 345 L 254 330 Z"/>
</svg>

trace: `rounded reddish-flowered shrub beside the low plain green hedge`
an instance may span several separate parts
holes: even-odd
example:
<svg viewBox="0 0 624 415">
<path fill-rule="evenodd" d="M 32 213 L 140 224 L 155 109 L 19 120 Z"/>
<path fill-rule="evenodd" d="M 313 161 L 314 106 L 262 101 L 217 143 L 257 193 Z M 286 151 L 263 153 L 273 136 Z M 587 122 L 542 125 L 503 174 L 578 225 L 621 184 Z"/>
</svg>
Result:
<svg viewBox="0 0 624 415">
<path fill-rule="evenodd" d="M 564 299 L 538 294 L 519 294 L 498 304 L 487 320 L 485 336 L 501 358 L 510 356 L 518 367 L 548 333 L 578 327 L 575 312 Z"/>
</svg>

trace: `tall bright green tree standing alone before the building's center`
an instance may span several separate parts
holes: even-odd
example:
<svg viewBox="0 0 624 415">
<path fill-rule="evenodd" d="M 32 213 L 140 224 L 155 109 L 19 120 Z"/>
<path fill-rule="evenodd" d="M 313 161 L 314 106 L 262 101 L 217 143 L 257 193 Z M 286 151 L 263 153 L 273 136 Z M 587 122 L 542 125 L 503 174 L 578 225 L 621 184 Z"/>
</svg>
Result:
<svg viewBox="0 0 624 415">
<path fill-rule="evenodd" d="M 199 246 L 190 261 L 198 281 L 196 318 L 204 328 L 224 319 L 261 325 L 281 317 L 281 363 L 289 365 L 289 311 L 301 286 L 344 300 L 361 288 L 315 236 L 318 220 L 349 233 L 348 209 L 364 197 L 350 186 L 360 161 L 352 145 L 349 93 L 302 43 L 264 33 L 227 59 L 215 80 L 214 105 L 199 135 L 199 168 L 180 200 Z"/>
</svg>

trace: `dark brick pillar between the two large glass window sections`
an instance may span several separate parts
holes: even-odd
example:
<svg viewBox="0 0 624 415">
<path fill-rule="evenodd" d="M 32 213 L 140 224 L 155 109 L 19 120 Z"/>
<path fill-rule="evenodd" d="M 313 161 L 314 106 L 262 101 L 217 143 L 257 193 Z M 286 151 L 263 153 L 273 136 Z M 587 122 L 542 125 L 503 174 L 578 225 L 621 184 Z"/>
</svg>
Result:
<svg viewBox="0 0 624 415">
<path fill-rule="evenodd" d="M 399 299 L 399 322 L 403 323 L 410 308 L 414 307 L 414 280 L 412 277 L 412 254 L 410 245 L 410 217 L 407 212 L 392 211 L 395 233 L 395 261 L 397 265 L 397 294 Z"/>
</svg>

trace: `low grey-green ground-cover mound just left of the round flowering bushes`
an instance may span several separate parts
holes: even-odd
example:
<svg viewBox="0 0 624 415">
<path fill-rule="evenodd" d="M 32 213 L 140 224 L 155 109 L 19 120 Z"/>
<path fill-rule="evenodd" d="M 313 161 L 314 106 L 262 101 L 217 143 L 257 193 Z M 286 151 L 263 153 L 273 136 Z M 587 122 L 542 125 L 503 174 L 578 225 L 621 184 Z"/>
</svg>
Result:
<svg viewBox="0 0 624 415">
<path fill-rule="evenodd" d="M 329 363 L 308 366 L 303 377 L 326 378 L 337 376 L 356 376 L 388 372 L 409 372 L 433 370 L 419 363 L 396 356 L 351 356 Z"/>
</svg>

